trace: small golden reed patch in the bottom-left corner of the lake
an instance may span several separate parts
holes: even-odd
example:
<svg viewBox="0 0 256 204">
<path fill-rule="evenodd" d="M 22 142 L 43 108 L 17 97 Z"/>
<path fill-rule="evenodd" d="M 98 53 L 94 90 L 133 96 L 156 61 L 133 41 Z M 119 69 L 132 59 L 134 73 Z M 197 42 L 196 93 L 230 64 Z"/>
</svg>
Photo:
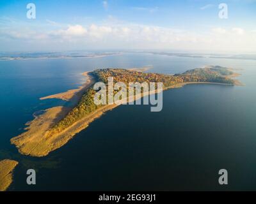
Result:
<svg viewBox="0 0 256 204">
<path fill-rule="evenodd" d="M 18 162 L 10 159 L 0 161 L 0 191 L 6 191 L 12 184 L 12 171 Z"/>
</svg>

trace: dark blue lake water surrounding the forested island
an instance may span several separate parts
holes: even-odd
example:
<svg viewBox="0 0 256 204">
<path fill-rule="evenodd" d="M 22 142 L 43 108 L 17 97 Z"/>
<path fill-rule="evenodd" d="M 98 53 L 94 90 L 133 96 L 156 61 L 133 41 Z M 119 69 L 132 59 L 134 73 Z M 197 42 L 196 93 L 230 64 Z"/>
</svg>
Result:
<svg viewBox="0 0 256 204">
<path fill-rule="evenodd" d="M 205 65 L 239 69 L 245 86 L 186 85 L 163 93 L 163 110 L 119 106 L 49 156 L 22 156 L 10 138 L 33 113 L 56 105 L 95 68 L 153 66 L 181 73 Z M 256 190 L 256 61 L 124 54 L 87 59 L 0 61 L 0 159 L 15 159 L 11 191 Z M 36 185 L 26 170 L 36 170 Z M 218 171 L 228 170 L 228 185 Z"/>
</svg>

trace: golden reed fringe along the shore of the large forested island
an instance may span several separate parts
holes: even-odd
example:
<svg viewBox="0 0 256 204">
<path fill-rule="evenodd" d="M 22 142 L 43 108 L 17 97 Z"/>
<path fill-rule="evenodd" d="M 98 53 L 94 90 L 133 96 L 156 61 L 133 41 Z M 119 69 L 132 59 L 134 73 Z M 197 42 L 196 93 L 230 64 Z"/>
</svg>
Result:
<svg viewBox="0 0 256 204">
<path fill-rule="evenodd" d="M 84 73 L 84 76 L 88 77 L 90 75 L 90 71 Z M 87 81 L 87 80 L 86 80 Z M 91 85 L 95 83 L 95 78 L 92 75 L 88 78 L 88 82 L 84 83 L 82 87 L 79 87 L 79 91 L 77 89 L 72 89 L 67 92 L 62 92 L 60 94 L 54 94 L 51 96 L 46 96 L 40 99 L 47 98 L 60 98 L 60 99 L 68 99 L 70 101 L 76 102 L 83 95 L 84 91 L 88 89 Z M 218 84 L 218 85 L 240 85 L 240 84 L 221 84 L 218 82 L 184 82 L 180 84 L 171 85 L 169 87 L 163 87 L 163 91 L 173 88 L 180 88 L 184 85 L 189 84 Z M 71 94 L 70 94 L 71 92 Z M 154 94 L 154 92 L 147 92 L 144 96 Z M 71 97 L 72 96 L 72 97 Z M 136 96 L 133 96 L 133 101 Z M 127 99 L 127 98 L 126 98 Z M 63 145 L 65 145 L 69 140 L 71 140 L 77 133 L 87 128 L 93 120 L 99 118 L 103 113 L 108 112 L 109 110 L 113 110 L 121 104 L 113 104 L 113 105 L 104 105 L 94 112 L 90 113 L 83 119 L 80 119 L 68 128 L 64 129 L 60 133 L 56 133 L 54 135 L 49 135 L 49 129 L 54 126 L 58 121 L 63 119 L 65 115 L 71 110 L 71 108 L 67 108 L 64 106 L 55 106 L 45 110 L 45 113 L 42 115 L 38 115 L 34 120 L 29 122 L 28 127 L 25 128 L 27 131 L 22 133 L 19 136 L 15 136 L 11 139 L 11 143 L 17 147 L 20 154 L 35 156 L 35 157 L 43 157 L 47 156 L 50 152 L 59 149 Z"/>
</svg>

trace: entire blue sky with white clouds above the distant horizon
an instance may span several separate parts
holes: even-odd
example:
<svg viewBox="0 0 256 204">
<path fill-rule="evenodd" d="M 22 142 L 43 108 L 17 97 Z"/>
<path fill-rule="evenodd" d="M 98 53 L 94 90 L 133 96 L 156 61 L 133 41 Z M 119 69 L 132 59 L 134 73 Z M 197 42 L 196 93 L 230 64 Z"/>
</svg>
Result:
<svg viewBox="0 0 256 204">
<path fill-rule="evenodd" d="M 256 52 L 255 22 L 256 0 L 0 0 L 0 52 Z"/>
</svg>

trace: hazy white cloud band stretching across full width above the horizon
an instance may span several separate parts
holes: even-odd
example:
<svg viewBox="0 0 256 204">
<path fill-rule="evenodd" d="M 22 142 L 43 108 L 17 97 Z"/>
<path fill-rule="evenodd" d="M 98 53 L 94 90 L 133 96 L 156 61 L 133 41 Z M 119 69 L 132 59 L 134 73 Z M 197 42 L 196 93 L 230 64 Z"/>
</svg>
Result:
<svg viewBox="0 0 256 204">
<path fill-rule="evenodd" d="M 256 33 L 239 27 L 190 31 L 108 20 L 102 24 L 49 27 L 0 27 L 1 42 L 29 43 L 36 48 L 172 48 L 197 50 L 255 50 Z M 3 43 L 2 43 L 3 44 Z M 15 47 L 13 47 L 15 48 Z"/>
</svg>

